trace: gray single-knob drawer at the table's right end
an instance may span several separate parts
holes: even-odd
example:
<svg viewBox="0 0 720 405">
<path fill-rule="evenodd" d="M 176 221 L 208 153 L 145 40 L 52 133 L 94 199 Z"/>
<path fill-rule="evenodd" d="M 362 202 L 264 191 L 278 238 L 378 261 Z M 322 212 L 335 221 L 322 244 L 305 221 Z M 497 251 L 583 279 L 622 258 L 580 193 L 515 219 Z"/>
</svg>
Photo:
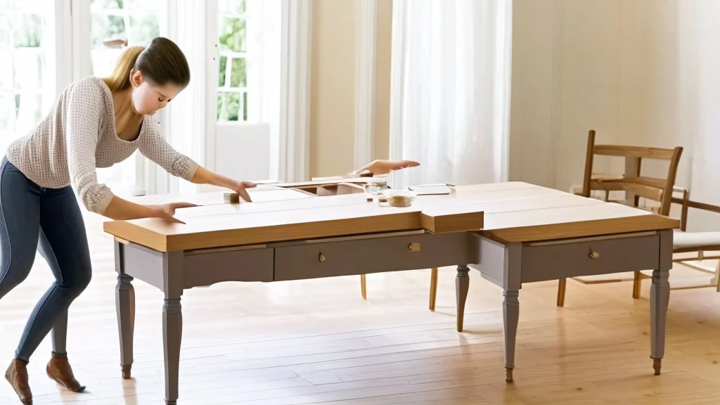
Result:
<svg viewBox="0 0 720 405">
<path fill-rule="evenodd" d="M 522 282 L 653 270 L 660 264 L 660 235 L 608 236 L 522 248 Z"/>
</svg>

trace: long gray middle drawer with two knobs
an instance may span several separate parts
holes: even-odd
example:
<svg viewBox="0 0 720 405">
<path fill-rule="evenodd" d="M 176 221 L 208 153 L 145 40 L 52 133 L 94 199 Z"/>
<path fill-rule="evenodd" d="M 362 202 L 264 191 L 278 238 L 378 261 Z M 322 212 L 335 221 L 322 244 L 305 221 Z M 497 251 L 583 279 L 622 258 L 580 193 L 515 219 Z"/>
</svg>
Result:
<svg viewBox="0 0 720 405">
<path fill-rule="evenodd" d="M 419 270 L 477 262 L 467 233 L 374 237 L 275 248 L 275 280 Z"/>
</svg>

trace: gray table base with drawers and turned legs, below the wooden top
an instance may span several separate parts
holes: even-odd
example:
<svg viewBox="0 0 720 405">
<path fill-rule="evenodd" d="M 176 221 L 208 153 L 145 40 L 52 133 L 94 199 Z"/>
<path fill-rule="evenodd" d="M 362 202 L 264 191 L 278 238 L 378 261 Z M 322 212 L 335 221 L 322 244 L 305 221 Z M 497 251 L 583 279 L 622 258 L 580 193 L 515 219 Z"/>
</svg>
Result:
<svg viewBox="0 0 720 405">
<path fill-rule="evenodd" d="M 135 324 L 135 278 L 163 291 L 165 401 L 176 404 L 184 290 L 216 282 L 274 282 L 376 272 L 457 266 L 457 330 L 462 331 L 469 270 L 503 288 L 505 375 L 513 380 L 515 342 L 523 282 L 653 270 L 650 295 L 650 357 L 655 374 L 665 352 L 670 297 L 672 231 L 621 233 L 582 239 L 501 244 L 478 233 L 424 231 L 157 252 L 132 242 L 114 242 L 117 324 L 122 377 L 130 378 Z"/>
</svg>

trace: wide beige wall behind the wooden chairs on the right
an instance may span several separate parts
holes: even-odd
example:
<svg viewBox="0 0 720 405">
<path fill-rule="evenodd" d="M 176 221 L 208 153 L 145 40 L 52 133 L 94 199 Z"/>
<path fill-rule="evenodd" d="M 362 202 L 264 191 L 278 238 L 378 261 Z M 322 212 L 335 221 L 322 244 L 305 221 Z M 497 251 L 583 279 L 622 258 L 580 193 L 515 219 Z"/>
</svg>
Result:
<svg viewBox="0 0 720 405">
<path fill-rule="evenodd" d="M 677 184 L 720 204 L 720 160 L 700 148 L 720 148 L 720 1 L 513 6 L 511 179 L 560 190 L 580 184 L 595 129 L 601 143 L 683 146 Z M 597 171 L 622 168 L 617 159 L 599 163 Z M 667 164 L 647 168 L 662 176 Z M 720 228 L 720 215 L 696 218 L 690 228 Z"/>
</svg>

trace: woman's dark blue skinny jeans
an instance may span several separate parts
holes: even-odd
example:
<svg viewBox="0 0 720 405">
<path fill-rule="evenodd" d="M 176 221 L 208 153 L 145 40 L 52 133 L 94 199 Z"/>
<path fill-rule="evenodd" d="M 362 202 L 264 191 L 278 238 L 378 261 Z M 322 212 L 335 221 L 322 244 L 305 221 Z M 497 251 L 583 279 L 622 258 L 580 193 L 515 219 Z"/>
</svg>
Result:
<svg viewBox="0 0 720 405">
<path fill-rule="evenodd" d="M 30 274 L 36 251 L 50 264 L 55 282 L 27 320 L 15 351 L 24 361 L 50 329 L 53 350 L 66 352 L 68 307 L 89 284 L 92 270 L 72 188 L 40 187 L 5 157 L 0 164 L 0 300 Z"/>
</svg>

